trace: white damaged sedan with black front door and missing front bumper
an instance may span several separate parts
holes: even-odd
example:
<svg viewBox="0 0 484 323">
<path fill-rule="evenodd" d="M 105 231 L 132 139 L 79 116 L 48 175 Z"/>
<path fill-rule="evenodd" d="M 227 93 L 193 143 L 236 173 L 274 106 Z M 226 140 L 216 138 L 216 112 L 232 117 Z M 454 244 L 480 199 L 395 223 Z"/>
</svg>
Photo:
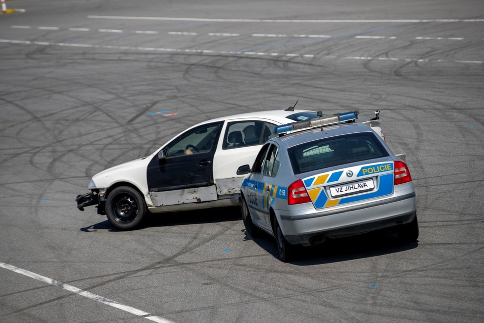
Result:
<svg viewBox="0 0 484 323">
<path fill-rule="evenodd" d="M 77 207 L 97 213 L 118 229 L 136 227 L 147 212 L 162 213 L 239 205 L 245 175 L 274 128 L 310 119 L 308 110 L 270 110 L 220 117 L 178 134 L 151 155 L 103 170 L 78 195 Z"/>
</svg>

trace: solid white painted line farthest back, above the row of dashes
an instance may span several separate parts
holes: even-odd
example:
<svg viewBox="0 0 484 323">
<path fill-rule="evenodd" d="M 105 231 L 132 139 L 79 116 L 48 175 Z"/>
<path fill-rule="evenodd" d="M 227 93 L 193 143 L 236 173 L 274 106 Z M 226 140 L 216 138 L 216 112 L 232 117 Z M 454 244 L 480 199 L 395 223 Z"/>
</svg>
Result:
<svg viewBox="0 0 484 323">
<path fill-rule="evenodd" d="M 166 21 L 204 21 L 204 22 L 293 22 L 293 23 L 364 23 L 364 22 L 484 22 L 484 19 L 346 19 L 346 20 L 300 20 L 300 19 L 216 19 L 183 17 L 136 17 L 136 16 L 99 16 L 89 15 L 92 19 L 127 19 L 127 20 L 166 20 Z"/>
</svg>

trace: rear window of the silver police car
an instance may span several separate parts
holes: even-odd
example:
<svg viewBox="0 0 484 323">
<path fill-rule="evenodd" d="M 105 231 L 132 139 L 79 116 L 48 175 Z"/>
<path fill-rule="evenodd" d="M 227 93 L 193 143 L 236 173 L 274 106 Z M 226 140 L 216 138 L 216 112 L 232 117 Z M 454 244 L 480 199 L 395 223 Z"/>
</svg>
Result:
<svg viewBox="0 0 484 323">
<path fill-rule="evenodd" d="M 387 157 L 373 133 L 356 133 L 306 142 L 288 150 L 294 174 Z"/>
</svg>

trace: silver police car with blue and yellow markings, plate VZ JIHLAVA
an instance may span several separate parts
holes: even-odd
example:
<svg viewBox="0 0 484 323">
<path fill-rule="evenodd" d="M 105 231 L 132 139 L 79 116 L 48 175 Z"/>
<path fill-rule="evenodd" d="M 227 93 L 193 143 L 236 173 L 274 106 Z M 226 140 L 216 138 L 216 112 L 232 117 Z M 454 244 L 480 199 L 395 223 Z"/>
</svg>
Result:
<svg viewBox="0 0 484 323">
<path fill-rule="evenodd" d="M 405 242 L 418 238 L 415 190 L 408 166 L 358 111 L 278 126 L 261 148 L 241 188 L 242 220 L 252 237 L 276 238 L 282 261 L 294 245 L 315 245 L 394 227 Z"/>
</svg>

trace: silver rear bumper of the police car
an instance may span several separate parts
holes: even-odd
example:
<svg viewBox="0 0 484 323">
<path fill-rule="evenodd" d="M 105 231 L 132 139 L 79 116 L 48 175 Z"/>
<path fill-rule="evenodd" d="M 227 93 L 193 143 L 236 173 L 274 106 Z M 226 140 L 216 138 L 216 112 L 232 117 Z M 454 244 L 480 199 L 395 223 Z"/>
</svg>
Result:
<svg viewBox="0 0 484 323">
<path fill-rule="evenodd" d="M 333 212 L 283 215 L 280 225 L 291 244 L 316 244 L 411 222 L 416 216 L 415 193 Z"/>
</svg>

